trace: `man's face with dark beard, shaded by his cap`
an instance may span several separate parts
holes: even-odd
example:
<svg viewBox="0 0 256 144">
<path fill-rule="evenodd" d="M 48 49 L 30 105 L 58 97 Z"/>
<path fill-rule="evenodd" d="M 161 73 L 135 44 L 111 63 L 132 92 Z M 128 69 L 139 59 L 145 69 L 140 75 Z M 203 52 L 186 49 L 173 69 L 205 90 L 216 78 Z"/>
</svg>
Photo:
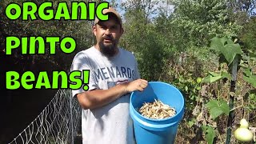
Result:
<svg viewBox="0 0 256 144">
<path fill-rule="evenodd" d="M 94 35 L 100 51 L 106 57 L 113 57 L 118 50 L 118 41 L 122 36 L 123 29 L 113 17 L 109 17 L 108 21 L 98 22 L 93 26 Z"/>
</svg>

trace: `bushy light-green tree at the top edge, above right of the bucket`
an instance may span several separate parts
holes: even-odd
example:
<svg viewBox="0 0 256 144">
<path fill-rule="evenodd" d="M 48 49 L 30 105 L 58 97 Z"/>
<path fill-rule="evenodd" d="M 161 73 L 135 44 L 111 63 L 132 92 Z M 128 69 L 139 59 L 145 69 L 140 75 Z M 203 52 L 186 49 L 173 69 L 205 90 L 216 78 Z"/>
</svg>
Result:
<svg viewBox="0 0 256 144">
<path fill-rule="evenodd" d="M 231 21 L 225 0 L 174 0 L 173 3 L 172 23 L 177 26 L 182 41 L 203 46 L 214 36 L 237 37 L 241 27 Z"/>
</svg>

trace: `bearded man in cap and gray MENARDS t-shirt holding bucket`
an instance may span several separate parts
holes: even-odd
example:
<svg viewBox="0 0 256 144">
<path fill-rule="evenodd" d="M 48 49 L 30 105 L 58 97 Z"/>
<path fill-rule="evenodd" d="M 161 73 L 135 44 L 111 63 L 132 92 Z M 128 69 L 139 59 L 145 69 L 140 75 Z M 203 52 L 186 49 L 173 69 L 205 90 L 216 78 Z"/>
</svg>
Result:
<svg viewBox="0 0 256 144">
<path fill-rule="evenodd" d="M 109 19 L 95 19 L 96 44 L 76 54 L 71 66 L 71 71 L 90 70 L 89 90 L 72 90 L 82 106 L 82 143 L 133 144 L 130 93 L 144 90 L 148 82 L 140 78 L 134 54 L 118 47 L 122 18 L 111 7 L 102 13 Z"/>
</svg>

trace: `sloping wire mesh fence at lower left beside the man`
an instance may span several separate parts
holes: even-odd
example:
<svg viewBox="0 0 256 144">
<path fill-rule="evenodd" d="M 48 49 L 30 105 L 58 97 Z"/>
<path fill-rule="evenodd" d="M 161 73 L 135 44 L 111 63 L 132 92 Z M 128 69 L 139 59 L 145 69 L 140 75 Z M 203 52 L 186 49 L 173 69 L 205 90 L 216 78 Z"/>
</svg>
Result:
<svg viewBox="0 0 256 144">
<path fill-rule="evenodd" d="M 73 144 L 81 126 L 81 108 L 71 90 L 58 90 L 42 113 L 9 144 Z"/>
</svg>

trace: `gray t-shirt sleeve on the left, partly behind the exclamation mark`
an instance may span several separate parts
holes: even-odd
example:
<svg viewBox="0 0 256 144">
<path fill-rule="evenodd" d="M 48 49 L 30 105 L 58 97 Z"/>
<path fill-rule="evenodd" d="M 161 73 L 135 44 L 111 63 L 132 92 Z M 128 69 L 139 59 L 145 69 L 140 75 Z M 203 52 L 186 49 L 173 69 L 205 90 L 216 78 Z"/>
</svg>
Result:
<svg viewBox="0 0 256 144">
<path fill-rule="evenodd" d="M 97 89 L 98 88 L 98 85 L 96 84 L 96 82 L 94 81 L 94 76 L 93 76 L 93 70 L 92 68 L 90 67 L 90 62 L 88 62 L 88 60 L 86 60 L 86 58 L 79 58 L 78 57 L 75 57 L 73 62 L 72 62 L 72 65 L 71 65 L 71 69 L 70 69 L 70 72 L 72 71 L 82 71 L 82 70 L 90 70 L 90 76 L 89 76 L 89 83 L 88 83 L 88 86 L 89 86 L 89 90 L 94 90 L 94 89 Z M 81 77 L 82 78 L 82 77 Z M 82 78 L 83 79 L 83 78 Z M 82 86 L 83 87 L 83 86 Z M 78 90 L 72 90 L 72 95 L 73 97 L 76 95 L 76 94 L 79 94 L 79 93 L 82 93 L 84 92 L 85 90 L 82 89 L 82 87 Z"/>
</svg>

